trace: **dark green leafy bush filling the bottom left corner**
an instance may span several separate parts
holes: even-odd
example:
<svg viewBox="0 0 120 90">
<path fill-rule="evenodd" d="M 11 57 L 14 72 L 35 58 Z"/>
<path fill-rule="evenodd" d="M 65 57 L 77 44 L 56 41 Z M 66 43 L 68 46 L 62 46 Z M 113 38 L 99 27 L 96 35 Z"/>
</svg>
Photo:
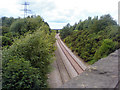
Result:
<svg viewBox="0 0 120 90">
<path fill-rule="evenodd" d="M 33 68 L 24 58 L 13 57 L 3 68 L 3 89 L 39 89 L 46 87 L 40 70 Z"/>
</svg>

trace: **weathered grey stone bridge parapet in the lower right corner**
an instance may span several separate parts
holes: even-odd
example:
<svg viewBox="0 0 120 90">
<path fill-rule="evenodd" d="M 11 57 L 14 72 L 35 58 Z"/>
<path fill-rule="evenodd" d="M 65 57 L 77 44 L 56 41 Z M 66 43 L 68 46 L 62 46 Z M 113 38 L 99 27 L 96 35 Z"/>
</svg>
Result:
<svg viewBox="0 0 120 90">
<path fill-rule="evenodd" d="M 87 68 L 79 76 L 60 86 L 60 88 L 115 88 L 116 86 L 119 86 L 119 58 L 120 51 L 118 52 L 118 50 L 116 50 L 108 57 L 100 59 L 98 62 Z"/>
</svg>

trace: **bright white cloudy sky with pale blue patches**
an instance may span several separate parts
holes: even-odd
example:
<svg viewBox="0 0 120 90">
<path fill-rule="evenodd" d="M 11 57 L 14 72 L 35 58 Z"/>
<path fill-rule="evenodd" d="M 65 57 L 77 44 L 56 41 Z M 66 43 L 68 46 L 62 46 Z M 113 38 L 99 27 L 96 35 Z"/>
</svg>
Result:
<svg viewBox="0 0 120 90">
<path fill-rule="evenodd" d="M 29 2 L 29 15 L 40 15 L 52 29 L 61 29 L 67 23 L 73 25 L 88 16 L 110 14 L 118 20 L 119 0 L 0 0 L 0 17 L 23 17 L 21 11 L 25 1 Z"/>
</svg>

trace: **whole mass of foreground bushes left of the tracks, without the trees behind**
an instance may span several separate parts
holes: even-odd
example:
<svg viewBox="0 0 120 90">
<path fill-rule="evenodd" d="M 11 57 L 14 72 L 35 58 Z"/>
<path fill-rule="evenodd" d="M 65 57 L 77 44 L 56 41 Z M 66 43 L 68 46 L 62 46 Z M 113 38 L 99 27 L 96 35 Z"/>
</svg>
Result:
<svg viewBox="0 0 120 90">
<path fill-rule="evenodd" d="M 3 87 L 18 89 L 47 87 L 47 76 L 55 50 L 54 34 L 28 32 L 3 50 Z M 27 71 L 24 71 L 27 70 Z M 10 84 L 11 83 L 11 84 Z"/>
</svg>

